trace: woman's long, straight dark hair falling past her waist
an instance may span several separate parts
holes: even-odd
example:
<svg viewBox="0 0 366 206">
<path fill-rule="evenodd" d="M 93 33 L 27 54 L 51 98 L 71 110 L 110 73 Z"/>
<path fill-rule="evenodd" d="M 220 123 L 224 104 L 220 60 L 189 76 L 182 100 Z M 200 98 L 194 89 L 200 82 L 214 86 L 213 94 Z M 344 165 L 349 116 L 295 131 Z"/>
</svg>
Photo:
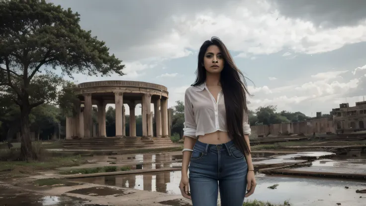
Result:
<svg viewBox="0 0 366 206">
<path fill-rule="evenodd" d="M 219 38 L 212 37 L 211 40 L 205 41 L 199 49 L 196 80 L 191 86 L 197 86 L 206 81 L 206 70 L 203 66 L 203 58 L 207 48 L 211 45 L 219 47 L 221 54 L 224 57 L 224 68 L 221 71 L 220 82 L 225 99 L 228 134 L 233 137 L 234 144 L 243 153 L 249 154 L 250 150 L 244 140 L 243 113 L 244 111 L 248 113 L 246 94 L 250 94 L 243 73 L 235 65 L 229 50 Z"/>
</svg>

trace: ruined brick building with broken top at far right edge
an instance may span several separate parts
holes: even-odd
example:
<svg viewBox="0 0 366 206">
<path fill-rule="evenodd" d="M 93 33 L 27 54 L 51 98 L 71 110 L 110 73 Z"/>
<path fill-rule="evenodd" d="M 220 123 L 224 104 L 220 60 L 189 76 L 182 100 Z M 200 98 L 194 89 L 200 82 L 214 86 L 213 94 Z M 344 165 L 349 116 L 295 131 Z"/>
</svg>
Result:
<svg viewBox="0 0 366 206">
<path fill-rule="evenodd" d="M 337 133 L 366 130 L 366 101 L 357 102 L 356 106 L 341 103 L 339 108 L 332 109 L 330 113 Z"/>
</svg>

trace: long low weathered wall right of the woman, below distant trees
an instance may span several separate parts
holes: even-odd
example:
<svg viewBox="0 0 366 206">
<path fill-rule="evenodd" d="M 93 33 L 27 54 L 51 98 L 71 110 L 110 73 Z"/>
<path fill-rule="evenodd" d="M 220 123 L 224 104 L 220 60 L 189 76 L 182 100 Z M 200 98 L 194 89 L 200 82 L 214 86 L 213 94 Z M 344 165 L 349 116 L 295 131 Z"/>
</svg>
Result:
<svg viewBox="0 0 366 206">
<path fill-rule="evenodd" d="M 321 119 L 313 119 L 309 121 L 300 121 L 300 122 L 290 122 L 290 123 L 280 123 L 280 124 L 271 124 L 271 125 L 256 125 L 251 126 L 253 133 L 256 134 L 273 134 L 277 135 L 278 132 L 281 133 L 293 133 L 293 134 L 312 134 L 315 133 L 325 133 L 332 132 L 335 133 L 335 125 L 332 120 L 328 120 L 327 118 Z"/>
</svg>

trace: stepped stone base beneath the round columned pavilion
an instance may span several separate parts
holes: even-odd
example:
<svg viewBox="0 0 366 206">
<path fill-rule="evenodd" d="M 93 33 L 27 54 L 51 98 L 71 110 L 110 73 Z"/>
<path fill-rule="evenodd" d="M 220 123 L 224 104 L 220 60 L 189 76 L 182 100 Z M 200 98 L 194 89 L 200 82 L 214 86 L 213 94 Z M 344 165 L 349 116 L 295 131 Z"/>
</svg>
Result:
<svg viewBox="0 0 366 206">
<path fill-rule="evenodd" d="M 64 149 L 88 149 L 88 150 L 120 150 L 133 148 L 169 147 L 174 143 L 170 138 L 141 137 L 91 137 L 82 139 L 66 139 L 63 142 Z"/>
</svg>

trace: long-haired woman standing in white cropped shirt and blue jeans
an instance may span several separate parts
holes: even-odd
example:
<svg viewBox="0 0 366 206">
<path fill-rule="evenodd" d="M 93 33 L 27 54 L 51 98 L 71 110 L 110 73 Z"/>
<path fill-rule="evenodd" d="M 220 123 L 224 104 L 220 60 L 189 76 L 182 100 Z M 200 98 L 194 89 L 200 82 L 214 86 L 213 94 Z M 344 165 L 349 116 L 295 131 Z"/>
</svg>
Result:
<svg viewBox="0 0 366 206">
<path fill-rule="evenodd" d="M 179 187 L 193 206 L 216 206 L 218 191 L 221 206 L 242 206 L 256 187 L 244 76 L 217 37 L 201 46 L 196 73 L 184 97 Z"/>
</svg>

